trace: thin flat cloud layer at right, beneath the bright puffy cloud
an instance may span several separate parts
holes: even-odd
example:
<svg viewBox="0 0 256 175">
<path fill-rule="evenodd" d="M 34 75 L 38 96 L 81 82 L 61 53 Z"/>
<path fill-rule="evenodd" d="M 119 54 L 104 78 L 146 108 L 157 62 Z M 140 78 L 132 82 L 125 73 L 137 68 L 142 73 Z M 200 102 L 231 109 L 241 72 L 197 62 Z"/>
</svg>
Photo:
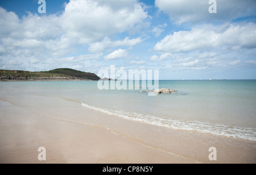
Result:
<svg viewBox="0 0 256 175">
<path fill-rule="evenodd" d="M 241 57 L 240 53 L 236 50 L 234 52 L 229 52 L 229 50 L 227 52 L 215 50 L 214 52 L 194 51 L 174 53 L 171 54 L 168 59 L 159 61 L 159 65 L 161 66 L 160 69 L 163 71 L 223 71 L 234 69 L 234 67 L 245 66 L 242 63 L 255 64 L 256 62 L 254 60 L 249 59 L 251 57 L 249 53 L 250 52 L 243 50 Z"/>
</svg>

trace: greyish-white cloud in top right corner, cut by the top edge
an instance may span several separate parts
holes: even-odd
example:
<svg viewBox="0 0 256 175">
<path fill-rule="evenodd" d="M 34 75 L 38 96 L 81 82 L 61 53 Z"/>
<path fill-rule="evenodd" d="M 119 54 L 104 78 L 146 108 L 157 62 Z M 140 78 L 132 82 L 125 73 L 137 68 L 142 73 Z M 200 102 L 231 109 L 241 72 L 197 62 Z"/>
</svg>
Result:
<svg viewBox="0 0 256 175">
<path fill-rule="evenodd" d="M 155 6 L 170 16 L 175 23 L 230 21 L 247 14 L 255 15 L 254 0 L 225 0 L 217 2 L 217 13 L 210 14 L 209 0 L 155 0 Z M 250 15 L 251 15 L 250 14 Z"/>
</svg>

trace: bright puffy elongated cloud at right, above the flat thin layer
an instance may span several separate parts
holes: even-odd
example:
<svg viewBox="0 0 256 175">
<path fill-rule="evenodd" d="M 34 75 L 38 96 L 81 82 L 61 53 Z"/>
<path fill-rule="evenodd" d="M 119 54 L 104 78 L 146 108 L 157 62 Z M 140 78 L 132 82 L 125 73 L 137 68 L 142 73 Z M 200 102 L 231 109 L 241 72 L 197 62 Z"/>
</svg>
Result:
<svg viewBox="0 0 256 175">
<path fill-rule="evenodd" d="M 192 28 L 191 31 L 174 32 L 158 42 L 154 49 L 159 52 L 189 52 L 213 48 L 256 48 L 256 25 L 230 24 L 218 31 L 212 25 Z"/>
</svg>

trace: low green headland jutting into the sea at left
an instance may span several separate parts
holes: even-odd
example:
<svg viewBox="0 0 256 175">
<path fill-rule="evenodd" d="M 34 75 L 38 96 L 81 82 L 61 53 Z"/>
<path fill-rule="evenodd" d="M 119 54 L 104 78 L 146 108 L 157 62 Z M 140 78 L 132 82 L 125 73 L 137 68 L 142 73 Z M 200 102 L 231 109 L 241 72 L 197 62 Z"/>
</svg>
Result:
<svg viewBox="0 0 256 175">
<path fill-rule="evenodd" d="M 96 74 L 60 68 L 49 71 L 0 70 L 1 81 L 99 80 Z"/>
</svg>

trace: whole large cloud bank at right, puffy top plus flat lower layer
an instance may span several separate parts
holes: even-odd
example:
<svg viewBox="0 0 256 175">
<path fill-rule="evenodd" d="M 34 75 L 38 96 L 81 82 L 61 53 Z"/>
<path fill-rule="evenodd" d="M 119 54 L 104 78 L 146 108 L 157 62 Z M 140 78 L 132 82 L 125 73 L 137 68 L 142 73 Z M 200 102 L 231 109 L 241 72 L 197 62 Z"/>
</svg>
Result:
<svg viewBox="0 0 256 175">
<path fill-rule="evenodd" d="M 228 70 L 248 63 L 253 67 L 256 25 L 196 25 L 188 31 L 167 35 L 154 46 L 154 50 L 159 55 L 151 56 L 150 61 L 162 60 L 159 63 L 167 71 Z"/>
</svg>

